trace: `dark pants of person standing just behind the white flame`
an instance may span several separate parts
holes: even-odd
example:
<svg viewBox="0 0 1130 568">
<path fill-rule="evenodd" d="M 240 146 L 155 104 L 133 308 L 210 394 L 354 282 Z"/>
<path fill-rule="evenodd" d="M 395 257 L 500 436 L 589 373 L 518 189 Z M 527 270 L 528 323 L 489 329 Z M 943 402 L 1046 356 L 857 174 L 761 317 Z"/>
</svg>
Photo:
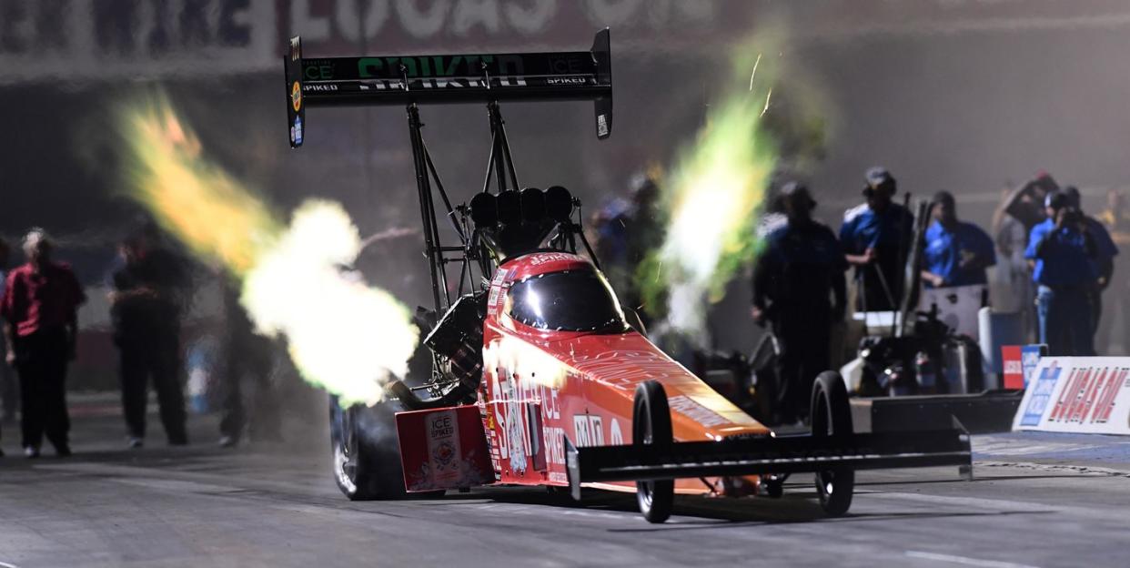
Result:
<svg viewBox="0 0 1130 568">
<path fill-rule="evenodd" d="M 279 438 L 278 401 L 271 385 L 272 348 L 270 339 L 259 336 L 237 338 L 228 346 L 220 434 L 238 440 L 244 427 L 249 425 L 247 410 L 243 402 L 243 382 L 250 380 L 255 402 L 249 428 L 252 439 Z"/>
</svg>

